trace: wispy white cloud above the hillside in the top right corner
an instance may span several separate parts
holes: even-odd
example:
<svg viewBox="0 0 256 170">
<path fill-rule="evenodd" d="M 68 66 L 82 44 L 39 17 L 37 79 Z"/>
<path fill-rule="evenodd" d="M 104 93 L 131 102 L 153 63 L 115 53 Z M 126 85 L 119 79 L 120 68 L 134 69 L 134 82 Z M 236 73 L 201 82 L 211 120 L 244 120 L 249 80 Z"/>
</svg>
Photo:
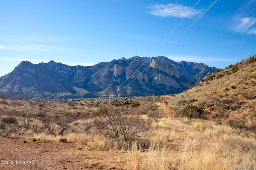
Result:
<svg viewBox="0 0 256 170">
<path fill-rule="evenodd" d="M 248 0 L 234 14 L 232 29 L 239 33 L 256 34 L 256 0 Z"/>
</svg>

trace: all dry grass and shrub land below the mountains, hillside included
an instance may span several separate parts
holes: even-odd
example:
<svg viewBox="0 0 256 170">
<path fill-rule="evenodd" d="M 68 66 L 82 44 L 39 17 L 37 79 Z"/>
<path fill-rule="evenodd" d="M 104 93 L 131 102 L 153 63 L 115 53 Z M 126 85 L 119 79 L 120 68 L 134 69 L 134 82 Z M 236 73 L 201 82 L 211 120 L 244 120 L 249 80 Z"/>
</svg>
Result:
<svg viewBox="0 0 256 170">
<path fill-rule="evenodd" d="M 1 138 L 36 146 L 69 143 L 81 157 L 120 153 L 118 162 L 128 170 L 256 169 L 254 61 L 216 71 L 167 101 L 124 98 L 119 112 L 116 100 L 109 109 L 108 100 L 2 96 Z"/>
</svg>

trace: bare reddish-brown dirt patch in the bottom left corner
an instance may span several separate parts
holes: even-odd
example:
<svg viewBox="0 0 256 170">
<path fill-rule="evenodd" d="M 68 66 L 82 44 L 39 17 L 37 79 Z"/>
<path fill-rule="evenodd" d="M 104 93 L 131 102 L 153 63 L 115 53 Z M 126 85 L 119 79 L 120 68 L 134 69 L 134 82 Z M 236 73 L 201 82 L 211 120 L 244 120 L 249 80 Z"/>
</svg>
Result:
<svg viewBox="0 0 256 170">
<path fill-rule="evenodd" d="M 0 160 L 6 160 L 6 164 L 0 164 L 0 170 L 121 170 L 127 161 L 126 153 L 74 150 L 76 145 L 69 143 L 36 145 L 0 137 L 0 145 Z"/>
</svg>

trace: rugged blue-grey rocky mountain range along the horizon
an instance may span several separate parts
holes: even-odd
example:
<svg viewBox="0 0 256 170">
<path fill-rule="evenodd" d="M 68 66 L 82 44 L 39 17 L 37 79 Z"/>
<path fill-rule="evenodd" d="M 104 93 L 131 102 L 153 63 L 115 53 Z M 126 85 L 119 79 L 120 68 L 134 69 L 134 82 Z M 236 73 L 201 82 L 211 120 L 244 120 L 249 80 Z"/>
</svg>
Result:
<svg viewBox="0 0 256 170">
<path fill-rule="evenodd" d="M 123 57 L 94 66 L 23 61 L 0 77 L 0 94 L 50 100 L 95 98 L 109 93 L 116 96 L 117 86 L 123 97 L 175 94 L 194 86 L 216 69 L 203 63 L 177 63 L 164 56 Z"/>
</svg>

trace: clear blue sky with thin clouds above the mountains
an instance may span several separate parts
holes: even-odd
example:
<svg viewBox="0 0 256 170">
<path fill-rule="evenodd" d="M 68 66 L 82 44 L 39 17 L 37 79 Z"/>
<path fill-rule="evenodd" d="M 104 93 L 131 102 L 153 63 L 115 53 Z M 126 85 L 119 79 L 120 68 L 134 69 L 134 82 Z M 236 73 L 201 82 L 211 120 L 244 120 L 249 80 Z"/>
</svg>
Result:
<svg viewBox="0 0 256 170">
<path fill-rule="evenodd" d="M 256 0 L 217 0 L 208 11 L 215 0 L 197 2 L 0 0 L 0 76 L 21 61 L 86 66 L 163 55 L 225 68 L 255 55 Z"/>
</svg>

